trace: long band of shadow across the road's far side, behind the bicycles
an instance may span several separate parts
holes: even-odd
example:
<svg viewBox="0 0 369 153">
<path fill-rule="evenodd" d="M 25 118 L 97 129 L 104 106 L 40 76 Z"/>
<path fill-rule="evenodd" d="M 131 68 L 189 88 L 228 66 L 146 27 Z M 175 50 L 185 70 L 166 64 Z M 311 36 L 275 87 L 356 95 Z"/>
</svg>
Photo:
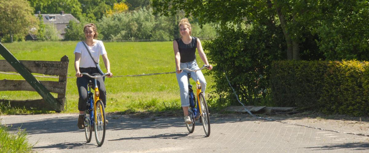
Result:
<svg viewBox="0 0 369 153">
<path fill-rule="evenodd" d="M 11 124 L 12 129 L 15 130 L 18 127 L 21 127 L 21 129 L 26 129 L 28 135 L 42 133 L 81 132 L 81 130 L 77 128 L 77 115 L 71 115 L 67 117 L 55 117 L 55 115 L 51 116 L 54 117 L 28 120 L 23 123 Z M 29 115 L 29 117 L 32 118 L 32 115 Z M 179 117 L 132 118 L 127 115 L 107 115 L 107 119 L 109 120 L 107 130 L 162 129 L 168 127 L 186 127 L 183 118 Z M 253 118 L 251 116 L 248 118 L 211 117 L 210 119 L 211 124 L 245 121 L 261 120 Z M 202 124 L 197 121 L 196 126 L 202 126 Z"/>
</svg>

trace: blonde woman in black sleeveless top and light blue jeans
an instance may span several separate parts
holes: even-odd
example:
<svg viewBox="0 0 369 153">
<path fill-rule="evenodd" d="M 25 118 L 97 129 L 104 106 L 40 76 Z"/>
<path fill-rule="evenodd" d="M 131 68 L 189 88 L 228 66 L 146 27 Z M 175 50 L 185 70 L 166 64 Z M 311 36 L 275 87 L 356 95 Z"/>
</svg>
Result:
<svg viewBox="0 0 369 153">
<path fill-rule="evenodd" d="M 182 68 L 188 69 L 199 69 L 199 66 L 196 62 L 196 48 L 199 52 L 200 58 L 203 60 L 204 64 L 209 65 L 206 55 L 203 51 L 203 47 L 201 46 L 201 42 L 199 38 L 191 36 L 191 24 L 187 18 L 183 18 L 179 24 L 179 32 L 181 34 L 181 38 L 177 38 L 173 41 L 173 50 L 175 54 L 176 60 L 176 76 L 180 89 L 180 98 L 181 105 L 184 113 L 184 122 L 191 123 L 191 119 L 188 116 L 188 107 L 190 105 L 189 102 L 189 94 L 188 94 L 188 82 L 187 82 L 187 73 L 191 73 L 192 79 L 195 78 L 195 72 L 184 72 L 181 71 Z M 209 70 L 213 69 L 212 65 L 209 65 Z M 202 87 L 202 91 L 205 93 L 206 89 L 206 81 L 203 73 L 201 71 L 196 72 L 197 79 L 199 79 Z M 195 80 L 196 81 L 196 80 Z"/>
</svg>

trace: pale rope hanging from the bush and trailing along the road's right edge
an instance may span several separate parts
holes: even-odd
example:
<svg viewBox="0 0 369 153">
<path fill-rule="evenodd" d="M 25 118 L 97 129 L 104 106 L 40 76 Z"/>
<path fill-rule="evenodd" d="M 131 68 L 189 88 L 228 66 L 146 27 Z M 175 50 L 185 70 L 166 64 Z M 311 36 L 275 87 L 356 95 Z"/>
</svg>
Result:
<svg viewBox="0 0 369 153">
<path fill-rule="evenodd" d="M 259 118 L 259 119 L 266 119 L 266 120 L 269 120 L 269 121 L 276 121 L 276 122 L 281 122 L 281 123 L 291 124 L 291 125 L 304 126 L 304 127 L 313 128 L 313 129 L 319 129 L 319 130 L 324 130 L 324 131 L 331 131 L 331 132 L 337 132 L 337 133 L 344 133 L 344 134 L 359 135 L 359 136 L 368 136 L 368 137 L 369 137 L 369 135 L 365 135 L 365 134 L 361 134 L 361 133 L 357 134 L 357 133 L 339 132 L 339 131 L 334 131 L 334 130 L 327 130 L 327 129 L 322 129 L 322 128 L 315 128 L 315 127 L 307 126 L 307 125 L 300 125 L 300 124 L 293 124 L 293 123 L 283 122 L 283 121 L 279 121 L 279 120 L 275 120 L 275 119 L 270 119 L 270 118 L 262 118 L 262 117 L 258 117 L 258 116 L 256 116 L 256 115 L 252 114 L 248 109 L 246 109 L 245 105 L 244 105 L 244 104 L 242 104 L 242 102 L 241 102 L 241 101 L 239 101 L 239 99 L 238 99 L 238 95 L 236 94 L 236 92 L 234 91 L 233 87 L 231 86 L 231 83 L 230 83 L 230 80 L 228 80 L 227 74 L 225 73 L 225 71 L 223 71 L 223 72 L 224 72 L 225 78 L 226 78 L 226 79 L 227 79 L 227 81 L 228 81 L 228 84 L 230 84 L 230 87 L 231 87 L 231 88 L 232 88 L 232 90 L 233 90 L 233 93 L 236 95 L 236 98 L 237 98 L 238 102 L 239 102 L 242 106 L 244 106 L 244 109 L 246 110 L 246 112 L 247 112 L 248 114 L 250 114 L 251 116 L 253 116 L 253 117 L 255 117 L 255 118 Z"/>
</svg>

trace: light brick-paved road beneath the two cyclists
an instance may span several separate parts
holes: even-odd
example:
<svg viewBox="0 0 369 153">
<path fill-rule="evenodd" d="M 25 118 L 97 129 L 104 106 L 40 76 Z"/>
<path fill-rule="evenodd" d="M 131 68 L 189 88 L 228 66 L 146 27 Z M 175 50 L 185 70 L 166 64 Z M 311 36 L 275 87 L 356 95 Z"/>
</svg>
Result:
<svg viewBox="0 0 369 153">
<path fill-rule="evenodd" d="M 209 137 L 205 137 L 199 122 L 195 131 L 188 133 L 181 118 L 108 115 L 106 139 L 101 147 L 94 137 L 86 143 L 84 131 L 76 126 L 77 114 L 0 118 L 3 125 L 26 129 L 36 152 L 369 152 L 367 136 L 265 121 L 249 115 L 211 117 Z M 338 126 L 324 128 L 334 130 Z"/>
</svg>

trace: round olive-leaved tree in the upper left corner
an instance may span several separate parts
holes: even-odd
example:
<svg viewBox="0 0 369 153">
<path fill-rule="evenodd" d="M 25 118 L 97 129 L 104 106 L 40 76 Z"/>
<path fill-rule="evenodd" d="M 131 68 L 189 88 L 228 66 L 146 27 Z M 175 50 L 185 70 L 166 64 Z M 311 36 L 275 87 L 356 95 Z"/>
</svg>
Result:
<svg viewBox="0 0 369 153">
<path fill-rule="evenodd" d="M 37 27 L 33 12 L 26 0 L 0 0 L 0 33 L 8 33 L 10 42 L 13 35 L 27 35 L 31 28 Z"/>
</svg>

